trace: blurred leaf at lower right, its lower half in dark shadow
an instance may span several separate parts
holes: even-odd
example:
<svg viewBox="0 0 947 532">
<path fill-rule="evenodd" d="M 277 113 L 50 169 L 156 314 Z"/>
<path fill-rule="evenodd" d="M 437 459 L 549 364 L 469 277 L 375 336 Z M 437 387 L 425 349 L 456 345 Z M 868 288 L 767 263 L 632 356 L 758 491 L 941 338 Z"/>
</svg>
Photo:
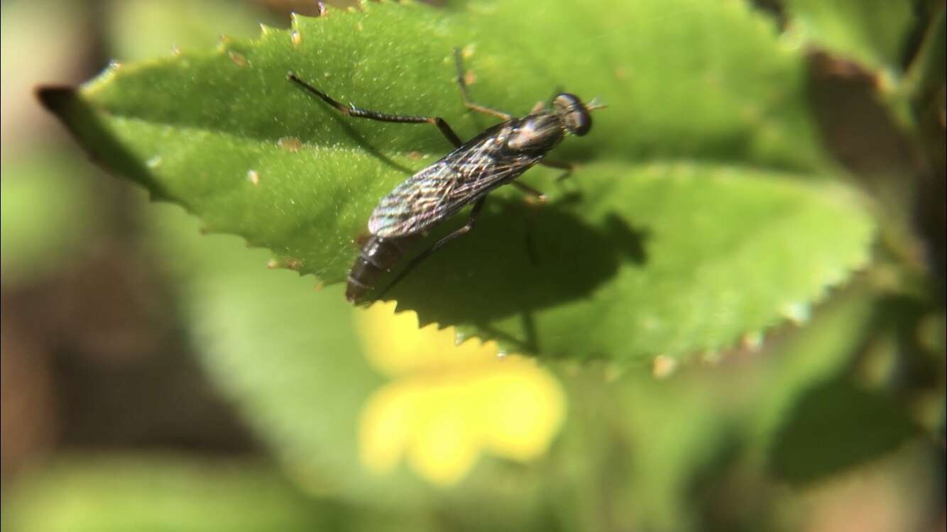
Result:
<svg viewBox="0 0 947 532">
<path fill-rule="evenodd" d="M 754 448 L 778 478 L 823 478 L 890 451 L 915 432 L 894 398 L 846 372 L 872 334 L 886 333 L 878 321 L 883 301 L 847 295 L 779 350 L 751 431 Z"/>
</svg>

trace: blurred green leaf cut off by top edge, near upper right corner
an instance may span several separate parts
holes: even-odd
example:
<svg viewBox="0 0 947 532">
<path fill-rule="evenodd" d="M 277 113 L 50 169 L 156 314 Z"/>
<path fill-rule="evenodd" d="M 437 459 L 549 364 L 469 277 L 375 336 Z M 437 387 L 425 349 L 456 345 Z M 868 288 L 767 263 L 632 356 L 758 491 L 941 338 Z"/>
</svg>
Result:
<svg viewBox="0 0 947 532">
<path fill-rule="evenodd" d="M 794 38 L 893 76 L 916 23 L 902 0 L 786 0 L 785 9 Z"/>
</svg>

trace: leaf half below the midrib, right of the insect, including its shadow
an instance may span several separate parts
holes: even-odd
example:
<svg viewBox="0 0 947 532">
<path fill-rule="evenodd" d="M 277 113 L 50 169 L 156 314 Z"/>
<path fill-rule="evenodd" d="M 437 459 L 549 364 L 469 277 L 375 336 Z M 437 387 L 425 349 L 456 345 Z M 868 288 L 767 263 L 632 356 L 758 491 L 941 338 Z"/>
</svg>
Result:
<svg viewBox="0 0 947 532">
<path fill-rule="evenodd" d="M 516 350 L 650 361 L 804 321 L 826 281 L 866 259 L 871 224 L 837 186 L 702 165 L 585 171 L 581 195 L 532 224 L 521 202 L 495 202 L 392 291 L 400 308 Z"/>
</svg>

